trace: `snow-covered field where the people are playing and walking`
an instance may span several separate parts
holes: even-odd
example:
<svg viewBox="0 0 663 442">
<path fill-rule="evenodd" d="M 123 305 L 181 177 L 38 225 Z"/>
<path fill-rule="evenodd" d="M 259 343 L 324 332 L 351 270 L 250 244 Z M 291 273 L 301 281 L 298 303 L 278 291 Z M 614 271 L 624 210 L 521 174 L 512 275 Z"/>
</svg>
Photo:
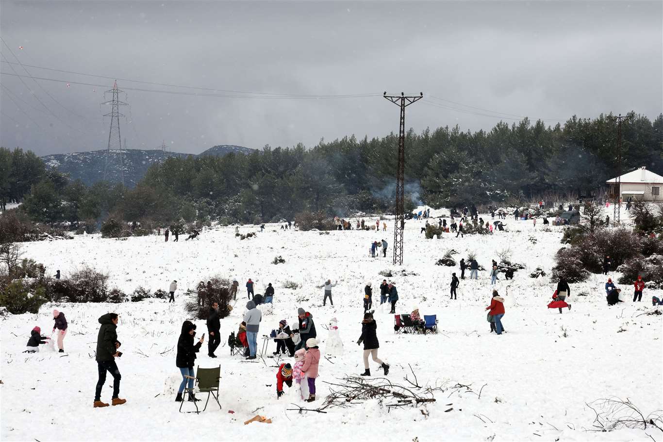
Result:
<svg viewBox="0 0 663 442">
<path fill-rule="evenodd" d="M 490 219 L 489 215 L 483 215 Z M 370 219 L 367 219 L 370 223 Z M 541 221 L 541 220 L 539 220 Z M 200 241 L 164 243 L 162 237 L 140 237 L 125 241 L 101 239 L 99 235 L 78 236 L 70 241 L 23 245 L 25 256 L 43 262 L 49 274 L 60 269 L 64 277 L 88 264 L 110 274 L 111 286 L 131 293 L 137 286 L 168 289 L 178 280 L 176 303 L 146 300 L 126 304 L 45 304 L 37 315 L 11 316 L 1 321 L 2 392 L 1 439 L 3 441 L 133 441 L 133 440 L 333 440 L 355 441 L 656 441 L 658 429 L 591 431 L 595 414 L 586 404 L 601 398 L 629 398 L 644 414 L 663 409 L 662 317 L 643 315 L 651 311 L 651 296 L 661 290 L 645 290 L 642 302 L 632 303 L 632 286 L 623 288 L 626 301 L 615 307 L 605 303 L 603 284 L 607 277 L 593 275 L 583 284 L 572 284 L 568 299 L 572 310 L 560 315 L 546 305 L 556 288 L 548 277 L 530 278 L 537 266 L 550 272 L 555 252 L 562 247 L 562 231 L 534 230 L 531 221 L 507 219 L 510 232 L 495 235 L 466 235 L 426 240 L 419 233 L 424 221 L 408 221 L 405 232 L 405 262 L 391 264 L 392 222 L 388 231 L 281 231 L 267 225 L 257 238 L 240 241 L 233 227 L 206 230 Z M 375 219 L 373 219 L 375 223 Z M 240 227 L 241 233 L 259 231 Z M 530 241 L 536 239 L 536 243 Z M 371 258 L 372 241 L 385 238 L 387 258 Z M 436 266 L 444 251 L 455 249 L 456 260 L 476 252 L 477 260 L 489 268 L 497 252 L 511 248 L 512 261 L 526 265 L 514 280 L 501 279 L 497 290 L 505 297 L 503 324 L 507 333 L 489 333 L 484 308 L 491 298 L 488 272 L 479 280 L 461 281 L 457 300 L 449 300 L 451 273 L 459 268 Z M 271 264 L 275 256 L 284 264 Z M 329 408 L 327 414 L 287 411 L 300 404 L 317 408 L 329 391 L 325 381 L 335 382 L 346 374 L 363 372 L 362 348 L 356 344 L 361 333 L 363 288 L 373 283 L 373 300 L 379 303 L 378 272 L 392 270 L 387 278 L 398 288 L 398 313 L 419 307 L 422 315 L 437 314 L 438 335 L 395 335 L 394 318 L 388 308 L 377 308 L 375 318 L 380 341 L 379 356 L 391 364 L 389 379 L 406 384 L 412 366 L 420 385 L 446 389 L 435 394 L 437 402 L 421 408 L 389 409 L 389 400 L 370 400 L 350 408 Z M 407 274 L 401 275 L 400 270 Z M 221 320 L 218 359 L 207 356 L 206 345 L 198 353 L 202 367 L 221 365 L 221 406 L 215 403 L 200 415 L 180 414 L 174 402 L 180 374 L 175 366 L 176 346 L 182 321 L 186 289 L 199 281 L 221 275 L 240 282 L 238 302 L 231 315 Z M 465 274 L 469 277 L 469 270 Z M 609 275 L 617 280 L 617 273 Z M 320 361 L 317 400 L 302 402 L 285 387 L 276 399 L 276 360 L 265 357 L 247 362 L 231 357 L 227 336 L 237 331 L 246 301 L 244 282 L 253 278 L 256 293 L 271 282 L 276 289 L 274 311 L 263 315 L 259 333 L 278 327 L 280 319 L 296 324 L 296 311 L 304 307 L 316 321 L 320 350 L 324 354 L 332 317 L 338 319 L 344 353 Z M 333 302 L 322 307 L 323 292 L 316 288 L 325 280 L 337 280 Z M 301 285 L 282 288 L 286 280 Z M 579 296 L 583 294 L 586 296 Z M 60 355 L 42 347 L 37 355 L 21 351 L 34 325 L 49 334 L 51 311 L 57 307 L 69 321 L 65 339 L 67 353 Z M 386 307 L 386 305 L 385 305 Z M 97 364 L 94 350 L 103 313 L 119 313 L 117 333 L 124 356 L 117 360 L 123 376 L 120 397 L 127 404 L 93 409 Z M 195 321 L 198 335 L 207 333 L 204 321 Z M 206 336 L 207 338 L 207 336 Z M 269 355 L 275 350 L 270 341 Z M 289 360 L 289 359 L 286 359 Z M 289 360 L 290 362 L 294 362 Z M 373 376 L 382 376 L 371 362 Z M 470 386 L 473 392 L 452 388 Z M 109 375 L 101 399 L 109 402 Z M 479 397 L 479 392 L 481 395 Z M 191 404 L 184 404 L 192 409 Z M 452 409 L 452 410 L 450 410 Z M 450 410 L 450 411 L 446 411 Z M 230 411 L 234 412 L 231 413 Z M 600 410 L 599 410 L 600 411 Z M 271 424 L 243 421 L 255 414 L 272 419 Z"/>
</svg>

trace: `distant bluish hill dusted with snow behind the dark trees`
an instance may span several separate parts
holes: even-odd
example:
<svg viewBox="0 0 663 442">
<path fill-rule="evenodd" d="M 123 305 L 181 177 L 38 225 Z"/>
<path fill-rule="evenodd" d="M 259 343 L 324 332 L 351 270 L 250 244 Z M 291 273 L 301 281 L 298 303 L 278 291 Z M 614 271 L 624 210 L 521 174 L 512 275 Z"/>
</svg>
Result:
<svg viewBox="0 0 663 442">
<path fill-rule="evenodd" d="M 250 154 L 254 151 L 255 149 L 243 146 L 224 144 L 213 146 L 202 152 L 199 156 L 223 156 L 231 152 L 236 154 Z M 68 174 L 72 180 L 80 179 L 88 186 L 103 180 L 106 167 L 106 179 L 111 182 L 121 182 L 121 172 L 124 170 L 125 186 L 133 188 L 145 176 L 145 172 L 147 172 L 147 169 L 152 164 L 164 162 L 170 156 L 182 157 L 190 155 L 197 156 L 195 154 L 164 152 L 162 150 L 127 149 L 122 151 L 122 169 L 120 168 L 119 150 L 111 150 L 109 155 L 106 150 L 91 150 L 89 152 L 44 155 L 41 158 L 46 163 L 46 167 L 57 168 L 63 174 Z"/>
</svg>

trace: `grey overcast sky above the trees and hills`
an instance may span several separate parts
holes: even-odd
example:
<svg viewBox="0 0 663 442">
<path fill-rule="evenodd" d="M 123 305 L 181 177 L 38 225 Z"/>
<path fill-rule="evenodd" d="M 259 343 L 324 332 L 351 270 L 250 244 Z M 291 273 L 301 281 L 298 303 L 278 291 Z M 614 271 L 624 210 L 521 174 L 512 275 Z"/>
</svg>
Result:
<svg viewBox="0 0 663 442">
<path fill-rule="evenodd" d="M 0 25 L 9 46 L 0 42 L 0 144 L 40 155 L 106 148 L 102 115 L 110 109 L 100 103 L 111 99 L 103 91 L 113 80 L 28 73 L 5 58 L 126 79 L 118 85 L 131 105 L 120 120 L 128 148 L 165 140 L 171 150 L 199 153 L 215 144 L 311 147 L 320 138 L 381 137 L 398 131 L 398 108 L 383 91 L 424 93 L 406 114 L 406 126 L 418 132 L 490 129 L 500 116 L 554 125 L 574 114 L 634 110 L 653 119 L 663 111 L 660 0 L 3 0 Z"/>
</svg>

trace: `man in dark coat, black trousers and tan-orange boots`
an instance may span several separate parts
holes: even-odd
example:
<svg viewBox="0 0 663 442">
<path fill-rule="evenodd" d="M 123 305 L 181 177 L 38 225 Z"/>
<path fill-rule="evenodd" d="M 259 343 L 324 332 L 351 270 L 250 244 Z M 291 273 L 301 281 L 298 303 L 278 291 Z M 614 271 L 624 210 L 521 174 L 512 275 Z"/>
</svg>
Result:
<svg viewBox="0 0 663 442">
<path fill-rule="evenodd" d="M 115 358 L 122 356 L 122 353 L 117 349 L 120 348 L 121 343 L 117 340 L 117 323 L 119 316 L 117 313 L 106 313 L 99 317 L 99 335 L 97 336 L 97 371 L 99 372 L 99 380 L 97 380 L 97 387 L 94 393 L 93 407 L 107 407 L 108 404 L 101 402 L 101 388 L 106 382 L 106 372 L 111 372 L 113 376 L 113 397 L 111 404 L 122 405 L 127 402 L 126 399 L 119 398 L 120 393 L 120 380 L 122 378 L 119 368 L 115 363 Z"/>
</svg>

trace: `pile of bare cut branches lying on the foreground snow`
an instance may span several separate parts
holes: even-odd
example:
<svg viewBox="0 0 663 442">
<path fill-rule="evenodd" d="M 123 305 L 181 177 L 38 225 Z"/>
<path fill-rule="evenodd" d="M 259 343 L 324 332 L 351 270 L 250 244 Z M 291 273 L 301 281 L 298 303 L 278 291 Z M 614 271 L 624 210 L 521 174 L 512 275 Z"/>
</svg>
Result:
<svg viewBox="0 0 663 442">
<path fill-rule="evenodd" d="M 331 407 L 349 408 L 365 400 L 380 399 L 389 401 L 388 408 L 402 406 L 422 406 L 435 402 L 434 392 L 440 388 L 422 387 L 416 381 L 411 386 L 394 384 L 387 378 L 361 378 L 345 376 L 339 382 L 325 382 L 330 385 L 330 394 L 319 410 Z"/>
</svg>

